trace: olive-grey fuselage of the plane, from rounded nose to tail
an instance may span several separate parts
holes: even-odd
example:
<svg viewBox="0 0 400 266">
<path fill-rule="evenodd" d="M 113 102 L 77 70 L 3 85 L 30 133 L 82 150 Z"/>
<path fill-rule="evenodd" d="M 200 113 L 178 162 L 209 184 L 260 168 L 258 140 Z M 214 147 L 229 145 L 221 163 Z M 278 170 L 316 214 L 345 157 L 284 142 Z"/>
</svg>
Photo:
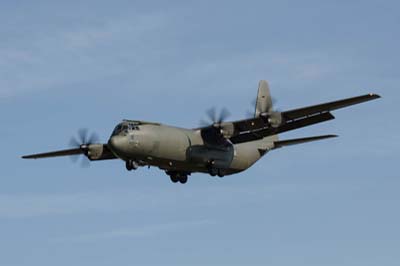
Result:
<svg viewBox="0 0 400 266">
<path fill-rule="evenodd" d="M 123 122 L 118 127 L 121 130 L 114 131 L 108 142 L 115 156 L 124 161 L 185 173 L 209 173 L 210 168 L 223 169 L 222 175 L 241 172 L 272 149 L 277 140 L 277 136 L 271 136 L 215 147 L 204 143 L 200 130 L 130 122 Z"/>
</svg>

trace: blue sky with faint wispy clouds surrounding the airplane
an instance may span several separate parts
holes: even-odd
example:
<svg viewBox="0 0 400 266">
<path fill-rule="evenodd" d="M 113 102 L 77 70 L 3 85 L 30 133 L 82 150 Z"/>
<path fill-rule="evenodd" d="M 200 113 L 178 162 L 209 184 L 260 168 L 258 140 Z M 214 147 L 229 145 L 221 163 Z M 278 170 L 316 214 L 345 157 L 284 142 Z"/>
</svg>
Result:
<svg viewBox="0 0 400 266">
<path fill-rule="evenodd" d="M 397 1 L 3 1 L 0 265 L 399 265 Z M 224 179 L 22 154 L 123 118 L 379 93 Z"/>
</svg>

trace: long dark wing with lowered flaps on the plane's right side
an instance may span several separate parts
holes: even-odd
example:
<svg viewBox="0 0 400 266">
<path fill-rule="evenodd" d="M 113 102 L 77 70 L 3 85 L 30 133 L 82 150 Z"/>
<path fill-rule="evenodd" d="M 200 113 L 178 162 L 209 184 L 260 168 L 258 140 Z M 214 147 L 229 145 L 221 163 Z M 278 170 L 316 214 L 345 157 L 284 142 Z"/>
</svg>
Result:
<svg viewBox="0 0 400 266">
<path fill-rule="evenodd" d="M 259 140 L 268 136 L 295 130 L 334 119 L 330 111 L 351 105 L 371 101 L 380 98 L 377 94 L 367 94 L 344 100 L 308 106 L 278 113 L 280 124 L 271 126 L 268 117 L 258 117 L 232 122 L 234 130 L 230 141 L 234 144 Z"/>
</svg>

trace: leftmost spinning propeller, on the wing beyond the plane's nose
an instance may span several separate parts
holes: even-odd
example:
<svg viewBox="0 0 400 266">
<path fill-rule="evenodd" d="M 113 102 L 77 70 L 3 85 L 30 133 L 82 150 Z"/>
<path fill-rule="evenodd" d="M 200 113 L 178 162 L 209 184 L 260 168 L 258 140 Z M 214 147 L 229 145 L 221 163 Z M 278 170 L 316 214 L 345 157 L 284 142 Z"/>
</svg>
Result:
<svg viewBox="0 0 400 266">
<path fill-rule="evenodd" d="M 69 145 L 73 148 L 81 149 L 83 151 L 83 155 L 86 157 L 82 157 L 82 167 L 88 167 L 90 165 L 90 160 L 88 158 L 89 146 L 97 141 L 99 141 L 98 135 L 94 132 L 89 135 L 89 130 L 87 128 L 79 129 L 77 138 L 71 137 Z M 80 155 L 73 155 L 70 158 L 73 162 L 77 162 L 79 156 Z"/>
</svg>

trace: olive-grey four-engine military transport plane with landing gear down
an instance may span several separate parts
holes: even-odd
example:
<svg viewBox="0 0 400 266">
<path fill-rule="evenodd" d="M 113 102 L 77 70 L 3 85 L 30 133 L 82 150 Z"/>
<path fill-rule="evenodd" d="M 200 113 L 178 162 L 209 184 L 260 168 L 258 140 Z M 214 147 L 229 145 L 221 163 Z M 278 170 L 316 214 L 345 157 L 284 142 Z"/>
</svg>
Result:
<svg viewBox="0 0 400 266">
<path fill-rule="evenodd" d="M 219 115 L 210 109 L 210 123 L 200 128 L 184 129 L 154 122 L 123 120 L 108 142 L 98 143 L 95 134 L 80 130 L 80 140 L 71 140 L 73 149 L 23 156 L 38 159 L 83 154 L 90 161 L 121 159 L 127 170 L 156 166 L 174 183 L 186 183 L 192 173 L 223 177 L 251 167 L 267 152 L 295 144 L 334 138 L 323 135 L 279 140 L 278 134 L 332 120 L 331 111 L 380 98 L 367 94 L 340 101 L 278 112 L 273 109 L 269 85 L 261 80 L 254 117 L 227 122 L 228 111 Z"/>
</svg>

